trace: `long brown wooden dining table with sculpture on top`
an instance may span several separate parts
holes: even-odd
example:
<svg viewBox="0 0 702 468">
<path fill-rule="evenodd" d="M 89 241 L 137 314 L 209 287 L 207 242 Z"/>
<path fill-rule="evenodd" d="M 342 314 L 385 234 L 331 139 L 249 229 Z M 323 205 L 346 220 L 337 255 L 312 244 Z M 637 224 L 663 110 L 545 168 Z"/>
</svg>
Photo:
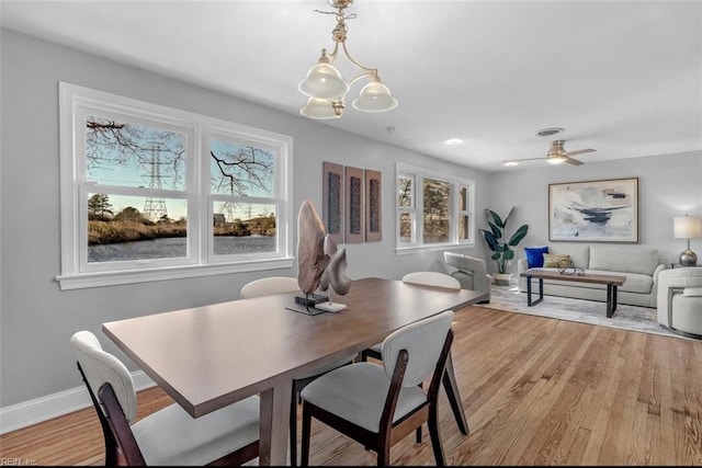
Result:
<svg viewBox="0 0 702 468">
<path fill-rule="evenodd" d="M 285 465 L 293 379 L 417 320 L 486 299 L 468 289 L 365 277 L 333 296 L 344 309 L 310 315 L 295 301 L 301 294 L 155 312 L 102 330 L 193 418 L 259 395 L 259 465 Z"/>
</svg>

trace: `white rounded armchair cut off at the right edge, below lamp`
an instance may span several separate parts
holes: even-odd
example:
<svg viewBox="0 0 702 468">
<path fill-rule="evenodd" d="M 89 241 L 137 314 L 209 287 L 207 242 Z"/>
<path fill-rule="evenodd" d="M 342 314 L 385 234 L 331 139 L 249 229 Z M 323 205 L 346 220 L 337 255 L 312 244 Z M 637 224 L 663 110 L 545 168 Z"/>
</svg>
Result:
<svg viewBox="0 0 702 468">
<path fill-rule="evenodd" d="M 702 267 L 658 274 L 658 323 L 684 336 L 702 339 Z"/>
</svg>

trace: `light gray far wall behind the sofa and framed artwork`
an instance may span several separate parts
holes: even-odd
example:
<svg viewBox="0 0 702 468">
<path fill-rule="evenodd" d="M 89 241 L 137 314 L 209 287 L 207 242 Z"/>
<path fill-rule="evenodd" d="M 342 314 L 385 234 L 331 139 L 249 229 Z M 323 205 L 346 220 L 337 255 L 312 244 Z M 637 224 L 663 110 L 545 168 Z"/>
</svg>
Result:
<svg viewBox="0 0 702 468">
<path fill-rule="evenodd" d="M 516 250 L 523 258 L 526 246 L 548 242 L 548 184 L 638 178 L 638 243 L 658 249 L 667 266 L 678 262 L 687 247 L 683 239 L 673 239 L 675 216 L 702 216 L 702 151 L 623 159 L 610 162 L 587 162 L 582 165 L 558 164 L 496 173 L 490 176 L 490 209 L 506 216 L 514 213 L 508 231 L 523 222 L 529 233 Z M 690 241 L 690 248 L 702 258 L 702 239 Z M 517 272 L 517 262 L 512 262 Z"/>
</svg>

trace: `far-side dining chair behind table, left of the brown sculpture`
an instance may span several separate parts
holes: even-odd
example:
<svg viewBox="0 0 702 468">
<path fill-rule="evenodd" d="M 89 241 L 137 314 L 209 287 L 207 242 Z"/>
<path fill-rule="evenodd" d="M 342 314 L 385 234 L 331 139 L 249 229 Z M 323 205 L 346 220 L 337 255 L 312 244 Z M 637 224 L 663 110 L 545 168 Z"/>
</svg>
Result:
<svg viewBox="0 0 702 468">
<path fill-rule="evenodd" d="M 250 299 L 271 294 L 299 292 L 296 278 L 285 276 L 271 276 L 254 279 L 241 287 L 242 299 Z M 344 356 L 324 367 L 315 369 L 313 373 L 293 379 L 293 392 L 290 404 L 290 461 L 291 466 L 297 466 L 297 404 L 299 403 L 299 392 L 317 377 L 333 370 L 340 366 L 352 363 L 358 354 Z"/>
</svg>

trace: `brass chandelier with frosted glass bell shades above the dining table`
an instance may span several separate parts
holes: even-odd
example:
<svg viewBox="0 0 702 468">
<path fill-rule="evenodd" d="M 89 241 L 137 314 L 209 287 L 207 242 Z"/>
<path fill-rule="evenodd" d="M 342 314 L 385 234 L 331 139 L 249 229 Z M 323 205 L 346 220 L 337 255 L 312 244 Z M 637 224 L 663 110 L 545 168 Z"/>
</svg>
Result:
<svg viewBox="0 0 702 468">
<path fill-rule="evenodd" d="M 353 109 L 360 112 L 380 113 L 397 107 L 397 100 L 393 98 L 390 90 L 381 82 L 377 69 L 362 66 L 351 57 L 347 49 L 348 27 L 346 20 L 356 15 L 346 16 L 343 10 L 353 3 L 353 0 L 327 0 L 327 2 L 337 9 L 335 13 L 337 26 L 331 32 L 335 42 L 333 52 L 329 54 L 326 48 L 322 48 L 321 57 L 317 64 L 299 82 L 297 87 L 299 92 L 308 96 L 307 103 L 299 110 L 299 113 L 305 117 L 317 119 L 340 118 L 346 107 L 347 93 L 351 85 L 362 78 L 367 78 L 369 82 L 361 89 L 359 96 L 352 101 Z M 361 70 L 360 75 L 348 82 L 333 66 L 339 55 L 339 48 L 343 50 L 343 55 L 351 64 Z"/>
</svg>

